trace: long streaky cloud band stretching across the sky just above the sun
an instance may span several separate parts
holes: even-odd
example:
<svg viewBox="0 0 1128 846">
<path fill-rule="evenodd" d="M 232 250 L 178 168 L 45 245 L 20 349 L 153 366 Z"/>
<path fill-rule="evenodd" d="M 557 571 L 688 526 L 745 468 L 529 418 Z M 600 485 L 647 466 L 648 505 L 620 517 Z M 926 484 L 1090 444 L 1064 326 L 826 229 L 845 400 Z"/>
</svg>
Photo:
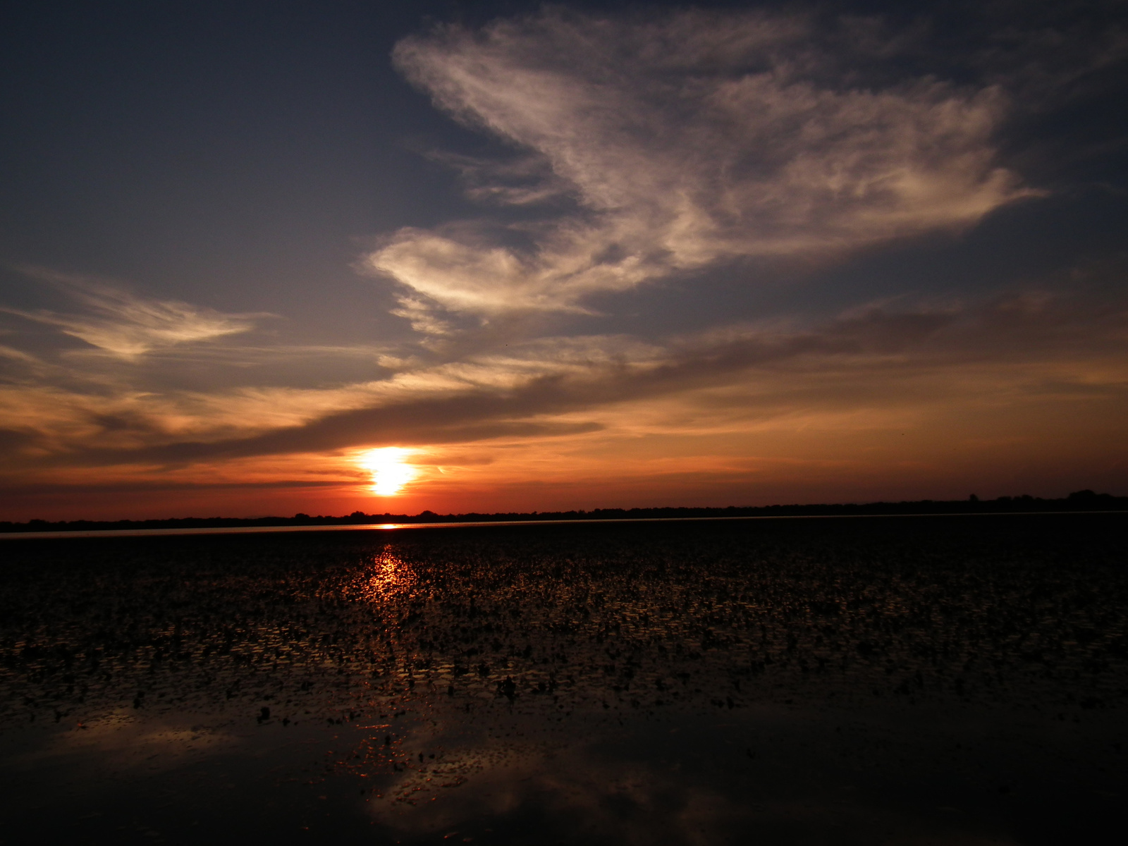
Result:
<svg viewBox="0 0 1128 846">
<path fill-rule="evenodd" d="M 98 402 L 17 389 L 12 399 L 26 413 L 10 420 L 55 432 L 50 444 L 38 442 L 41 466 L 191 464 L 613 429 L 748 432 L 770 421 L 888 418 L 925 406 L 1125 397 L 1126 327 L 1128 311 L 1108 302 L 1029 293 L 900 311 L 873 306 L 807 328 L 734 325 L 664 344 L 545 337 L 332 389 Z M 26 453 L 28 444 L 17 439 L 11 449 Z"/>
</svg>

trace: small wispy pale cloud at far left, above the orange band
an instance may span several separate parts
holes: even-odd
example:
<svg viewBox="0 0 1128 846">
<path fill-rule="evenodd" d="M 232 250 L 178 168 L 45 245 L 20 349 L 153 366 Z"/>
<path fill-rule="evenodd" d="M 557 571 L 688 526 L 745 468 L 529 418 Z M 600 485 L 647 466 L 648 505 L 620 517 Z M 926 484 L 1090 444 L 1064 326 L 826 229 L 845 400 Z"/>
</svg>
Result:
<svg viewBox="0 0 1128 846">
<path fill-rule="evenodd" d="M 153 350 L 190 344 L 254 328 L 252 318 L 264 315 L 226 315 L 178 300 L 138 297 L 99 280 L 39 268 L 25 271 L 65 290 L 85 306 L 81 315 L 49 310 L 0 310 L 55 326 L 64 334 L 122 359 L 136 359 Z"/>
</svg>

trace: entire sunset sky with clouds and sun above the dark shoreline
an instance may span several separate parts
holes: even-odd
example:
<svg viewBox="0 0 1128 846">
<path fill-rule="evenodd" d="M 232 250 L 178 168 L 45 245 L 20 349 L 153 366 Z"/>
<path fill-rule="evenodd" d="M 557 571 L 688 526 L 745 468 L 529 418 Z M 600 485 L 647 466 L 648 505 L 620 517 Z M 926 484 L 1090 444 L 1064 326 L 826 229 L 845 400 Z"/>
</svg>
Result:
<svg viewBox="0 0 1128 846">
<path fill-rule="evenodd" d="M 1128 494 L 1126 2 L 9 2 L 0 519 Z"/>
</svg>

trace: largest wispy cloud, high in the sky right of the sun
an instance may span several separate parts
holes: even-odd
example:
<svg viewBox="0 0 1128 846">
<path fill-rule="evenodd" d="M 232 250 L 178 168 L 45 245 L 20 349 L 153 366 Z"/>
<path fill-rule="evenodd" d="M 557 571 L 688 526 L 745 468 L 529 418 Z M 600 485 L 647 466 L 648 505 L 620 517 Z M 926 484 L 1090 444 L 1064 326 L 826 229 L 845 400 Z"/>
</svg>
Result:
<svg viewBox="0 0 1128 846">
<path fill-rule="evenodd" d="M 967 227 L 1036 193 L 996 161 L 999 88 L 844 76 L 820 37 L 797 16 L 549 8 L 403 39 L 397 67 L 439 107 L 523 151 L 451 159 L 473 197 L 572 208 L 400 229 L 367 268 L 403 287 L 418 332 L 449 333 L 422 315 L 582 311 L 676 272 Z"/>
</svg>

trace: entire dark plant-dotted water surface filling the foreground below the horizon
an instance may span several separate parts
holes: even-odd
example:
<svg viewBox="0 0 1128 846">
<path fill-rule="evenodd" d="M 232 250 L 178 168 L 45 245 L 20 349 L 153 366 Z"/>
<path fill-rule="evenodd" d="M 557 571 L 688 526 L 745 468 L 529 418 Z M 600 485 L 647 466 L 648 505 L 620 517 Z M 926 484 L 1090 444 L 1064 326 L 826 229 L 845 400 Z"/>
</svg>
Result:
<svg viewBox="0 0 1128 846">
<path fill-rule="evenodd" d="M 1126 528 L 3 539 L 0 841 L 1102 840 Z"/>
</svg>

